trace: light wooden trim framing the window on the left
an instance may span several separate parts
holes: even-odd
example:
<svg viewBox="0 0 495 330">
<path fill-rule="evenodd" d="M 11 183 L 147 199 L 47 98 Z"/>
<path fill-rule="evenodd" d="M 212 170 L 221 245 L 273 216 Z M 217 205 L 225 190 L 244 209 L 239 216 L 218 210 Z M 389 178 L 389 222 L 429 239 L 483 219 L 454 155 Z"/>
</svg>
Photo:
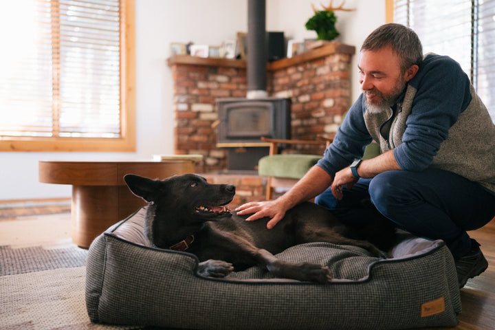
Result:
<svg viewBox="0 0 495 330">
<path fill-rule="evenodd" d="M 0 151 L 134 152 L 135 133 L 135 0 L 122 1 L 121 127 L 120 138 L 1 137 Z"/>
</svg>

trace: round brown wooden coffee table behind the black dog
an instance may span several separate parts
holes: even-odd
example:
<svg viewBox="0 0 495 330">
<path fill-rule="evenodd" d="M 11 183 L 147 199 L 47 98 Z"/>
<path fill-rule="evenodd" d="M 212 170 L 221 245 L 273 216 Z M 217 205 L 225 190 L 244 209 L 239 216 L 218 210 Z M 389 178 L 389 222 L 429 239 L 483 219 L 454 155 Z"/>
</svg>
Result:
<svg viewBox="0 0 495 330">
<path fill-rule="evenodd" d="M 151 179 L 194 173 L 194 159 L 113 162 L 39 162 L 39 181 L 72 185 L 72 241 L 80 248 L 146 205 L 127 188 L 124 175 Z"/>
</svg>

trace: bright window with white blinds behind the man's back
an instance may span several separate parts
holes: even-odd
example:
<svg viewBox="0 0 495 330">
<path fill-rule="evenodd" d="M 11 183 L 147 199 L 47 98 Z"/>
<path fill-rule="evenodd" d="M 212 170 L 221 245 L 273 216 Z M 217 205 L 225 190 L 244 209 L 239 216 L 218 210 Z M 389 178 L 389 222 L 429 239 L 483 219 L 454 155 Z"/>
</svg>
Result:
<svg viewBox="0 0 495 330">
<path fill-rule="evenodd" d="M 459 62 L 495 122 L 495 0 L 394 0 L 393 21 Z"/>
</svg>

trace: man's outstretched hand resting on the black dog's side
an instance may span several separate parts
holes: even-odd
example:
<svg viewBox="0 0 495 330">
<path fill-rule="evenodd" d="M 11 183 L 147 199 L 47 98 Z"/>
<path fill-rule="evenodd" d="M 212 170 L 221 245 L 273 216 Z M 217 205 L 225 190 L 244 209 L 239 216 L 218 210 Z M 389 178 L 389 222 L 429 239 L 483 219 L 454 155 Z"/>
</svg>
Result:
<svg viewBox="0 0 495 330">
<path fill-rule="evenodd" d="M 271 201 L 252 201 L 250 203 L 245 203 L 239 208 L 236 208 L 237 214 L 252 214 L 246 221 L 254 221 L 261 219 L 263 217 L 272 218 L 267 223 L 267 228 L 272 229 L 281 221 L 287 211 L 286 208 L 283 207 L 281 201 L 278 199 Z"/>
</svg>

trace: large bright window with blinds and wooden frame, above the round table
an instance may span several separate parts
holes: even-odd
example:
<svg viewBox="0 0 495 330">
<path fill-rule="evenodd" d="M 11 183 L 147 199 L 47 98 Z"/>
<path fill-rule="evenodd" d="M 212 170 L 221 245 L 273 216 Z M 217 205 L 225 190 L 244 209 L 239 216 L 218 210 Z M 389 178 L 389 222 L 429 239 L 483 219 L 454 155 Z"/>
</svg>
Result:
<svg viewBox="0 0 495 330">
<path fill-rule="evenodd" d="M 135 151 L 134 0 L 0 11 L 0 151 Z"/>
</svg>

